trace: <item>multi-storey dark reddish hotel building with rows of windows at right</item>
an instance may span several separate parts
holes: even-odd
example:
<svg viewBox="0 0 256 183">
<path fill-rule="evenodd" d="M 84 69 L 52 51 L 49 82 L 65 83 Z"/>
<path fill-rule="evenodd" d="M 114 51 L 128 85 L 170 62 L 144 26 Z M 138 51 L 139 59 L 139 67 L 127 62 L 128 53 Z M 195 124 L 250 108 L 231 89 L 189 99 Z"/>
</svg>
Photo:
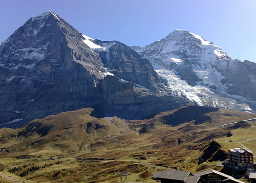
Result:
<svg viewBox="0 0 256 183">
<path fill-rule="evenodd" d="M 253 153 L 249 149 L 233 148 L 228 150 L 228 164 L 238 167 L 253 167 Z"/>
</svg>

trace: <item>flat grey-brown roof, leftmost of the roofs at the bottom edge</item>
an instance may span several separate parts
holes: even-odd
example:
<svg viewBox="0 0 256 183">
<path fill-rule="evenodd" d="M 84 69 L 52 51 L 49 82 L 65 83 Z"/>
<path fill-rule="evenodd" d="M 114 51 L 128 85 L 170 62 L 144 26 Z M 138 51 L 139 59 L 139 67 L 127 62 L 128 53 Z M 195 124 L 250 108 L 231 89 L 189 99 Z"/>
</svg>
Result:
<svg viewBox="0 0 256 183">
<path fill-rule="evenodd" d="M 154 173 L 152 178 L 185 180 L 189 174 L 190 172 L 177 171 L 177 170 L 163 170 L 162 172 Z"/>
</svg>

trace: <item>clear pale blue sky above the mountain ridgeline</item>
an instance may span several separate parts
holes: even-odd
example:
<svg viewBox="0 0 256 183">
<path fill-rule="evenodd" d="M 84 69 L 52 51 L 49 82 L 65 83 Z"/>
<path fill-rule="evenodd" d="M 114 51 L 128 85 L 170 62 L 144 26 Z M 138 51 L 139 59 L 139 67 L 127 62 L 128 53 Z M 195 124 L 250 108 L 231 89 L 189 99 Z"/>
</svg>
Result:
<svg viewBox="0 0 256 183">
<path fill-rule="evenodd" d="M 184 29 L 256 62 L 256 0 L 3 0 L 0 42 L 49 10 L 92 38 L 142 46 Z"/>
</svg>

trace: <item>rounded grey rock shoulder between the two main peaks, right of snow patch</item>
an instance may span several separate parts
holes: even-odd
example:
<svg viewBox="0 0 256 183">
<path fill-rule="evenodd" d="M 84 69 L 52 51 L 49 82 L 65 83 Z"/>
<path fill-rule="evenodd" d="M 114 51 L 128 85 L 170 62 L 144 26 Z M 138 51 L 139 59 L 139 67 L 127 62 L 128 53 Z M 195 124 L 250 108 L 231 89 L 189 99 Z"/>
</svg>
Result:
<svg viewBox="0 0 256 183">
<path fill-rule="evenodd" d="M 131 47 L 118 42 L 110 47 L 106 57 L 105 65 L 113 74 L 157 91 L 157 85 L 161 82 L 157 72 L 148 60 L 142 59 Z"/>
</svg>

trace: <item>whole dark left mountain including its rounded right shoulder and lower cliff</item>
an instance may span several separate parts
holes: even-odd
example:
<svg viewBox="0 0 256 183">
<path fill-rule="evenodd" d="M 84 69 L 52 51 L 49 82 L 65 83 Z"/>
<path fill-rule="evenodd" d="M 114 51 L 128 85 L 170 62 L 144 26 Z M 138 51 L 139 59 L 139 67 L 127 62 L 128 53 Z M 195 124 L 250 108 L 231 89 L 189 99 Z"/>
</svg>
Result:
<svg viewBox="0 0 256 183">
<path fill-rule="evenodd" d="M 53 12 L 30 18 L 0 45 L 0 127 L 83 107 L 142 118 L 186 103 L 162 88 L 129 46 L 89 38 Z"/>
</svg>

